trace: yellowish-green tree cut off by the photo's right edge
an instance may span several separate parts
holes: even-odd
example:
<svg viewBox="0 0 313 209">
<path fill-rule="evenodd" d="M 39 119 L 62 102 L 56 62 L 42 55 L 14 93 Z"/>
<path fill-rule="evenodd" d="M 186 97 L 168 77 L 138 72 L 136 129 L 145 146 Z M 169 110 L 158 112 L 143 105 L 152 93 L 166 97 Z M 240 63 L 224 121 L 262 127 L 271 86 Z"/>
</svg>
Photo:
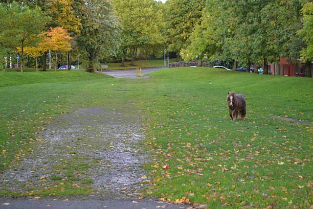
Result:
<svg viewBox="0 0 313 209">
<path fill-rule="evenodd" d="M 298 31 L 298 34 L 303 37 L 306 46 L 301 51 L 301 60 L 306 63 L 306 77 L 312 77 L 311 61 L 313 60 L 313 2 L 306 3 L 302 10 L 303 27 Z"/>
</svg>

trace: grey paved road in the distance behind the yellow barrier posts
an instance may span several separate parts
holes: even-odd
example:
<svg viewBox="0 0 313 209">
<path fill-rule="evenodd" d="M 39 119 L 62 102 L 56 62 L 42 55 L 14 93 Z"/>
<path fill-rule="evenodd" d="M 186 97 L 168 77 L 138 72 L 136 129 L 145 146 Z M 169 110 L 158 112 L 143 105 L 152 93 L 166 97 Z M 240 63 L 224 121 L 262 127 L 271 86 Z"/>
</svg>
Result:
<svg viewBox="0 0 313 209">
<path fill-rule="evenodd" d="M 154 72 L 157 70 L 162 70 L 165 69 L 163 68 L 145 68 L 145 69 L 141 69 L 141 78 L 147 78 L 149 76 L 147 76 L 146 74 L 148 74 L 149 72 Z M 137 71 L 136 70 L 105 70 L 102 71 L 105 74 L 111 75 L 115 78 L 139 78 L 137 76 Z"/>
</svg>

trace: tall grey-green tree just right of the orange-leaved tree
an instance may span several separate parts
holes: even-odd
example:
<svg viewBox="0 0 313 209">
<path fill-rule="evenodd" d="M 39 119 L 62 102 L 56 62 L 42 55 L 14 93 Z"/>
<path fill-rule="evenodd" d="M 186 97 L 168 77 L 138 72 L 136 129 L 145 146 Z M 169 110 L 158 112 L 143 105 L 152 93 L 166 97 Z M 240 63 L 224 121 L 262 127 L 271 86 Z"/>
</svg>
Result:
<svg viewBox="0 0 313 209">
<path fill-rule="evenodd" d="M 82 10 L 82 30 L 78 45 L 88 60 L 87 71 L 96 68 L 97 55 L 104 50 L 113 50 L 119 43 L 120 24 L 108 0 L 87 0 Z"/>
</svg>

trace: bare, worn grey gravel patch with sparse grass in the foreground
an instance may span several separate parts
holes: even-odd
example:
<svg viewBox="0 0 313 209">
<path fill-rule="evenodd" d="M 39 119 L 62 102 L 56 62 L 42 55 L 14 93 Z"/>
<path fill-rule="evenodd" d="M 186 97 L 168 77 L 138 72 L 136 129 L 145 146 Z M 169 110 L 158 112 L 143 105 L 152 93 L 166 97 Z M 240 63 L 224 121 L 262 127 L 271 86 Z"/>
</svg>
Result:
<svg viewBox="0 0 313 209">
<path fill-rule="evenodd" d="M 0 187 L 29 192 L 70 181 L 105 199 L 136 195 L 147 159 L 138 115 L 91 107 L 55 118 L 37 133 L 33 153 L 0 174 Z"/>
</svg>

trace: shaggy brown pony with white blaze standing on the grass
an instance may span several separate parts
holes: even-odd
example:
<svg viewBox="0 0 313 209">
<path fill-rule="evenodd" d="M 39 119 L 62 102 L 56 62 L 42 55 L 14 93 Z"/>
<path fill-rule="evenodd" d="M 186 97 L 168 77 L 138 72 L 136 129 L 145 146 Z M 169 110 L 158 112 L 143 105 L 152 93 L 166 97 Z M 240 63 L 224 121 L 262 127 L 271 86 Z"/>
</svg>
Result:
<svg viewBox="0 0 313 209">
<path fill-rule="evenodd" d="M 227 95 L 229 107 L 229 116 L 232 120 L 236 120 L 239 115 L 241 119 L 246 118 L 246 98 L 243 94 L 235 94 L 229 92 Z"/>
</svg>

